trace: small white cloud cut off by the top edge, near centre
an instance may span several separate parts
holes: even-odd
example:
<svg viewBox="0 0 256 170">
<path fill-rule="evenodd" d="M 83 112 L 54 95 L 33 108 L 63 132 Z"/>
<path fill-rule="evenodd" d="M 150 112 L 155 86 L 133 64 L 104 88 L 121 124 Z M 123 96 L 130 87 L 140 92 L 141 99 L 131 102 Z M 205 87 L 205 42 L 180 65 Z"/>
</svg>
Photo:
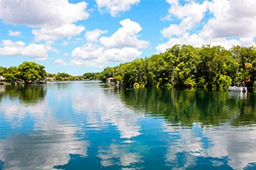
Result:
<svg viewBox="0 0 256 170">
<path fill-rule="evenodd" d="M 118 15 L 119 12 L 125 12 L 132 5 L 139 4 L 140 0 L 96 0 L 99 11 L 106 10 L 111 16 Z"/>
</svg>

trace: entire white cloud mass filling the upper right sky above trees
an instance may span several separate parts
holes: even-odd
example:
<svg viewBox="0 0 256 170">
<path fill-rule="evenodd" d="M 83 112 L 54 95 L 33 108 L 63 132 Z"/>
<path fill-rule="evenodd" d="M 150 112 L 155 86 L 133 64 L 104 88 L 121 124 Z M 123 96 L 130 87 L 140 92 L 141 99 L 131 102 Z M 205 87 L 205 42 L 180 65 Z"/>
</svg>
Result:
<svg viewBox="0 0 256 170">
<path fill-rule="evenodd" d="M 164 19 L 178 18 L 181 22 L 162 29 L 162 36 L 169 40 L 156 47 L 157 53 L 163 53 L 176 44 L 196 47 L 211 44 L 225 48 L 255 45 L 254 0 L 213 0 L 203 1 L 203 4 L 187 1 L 184 6 L 176 0 L 167 0 L 167 3 L 170 9 Z"/>
</svg>

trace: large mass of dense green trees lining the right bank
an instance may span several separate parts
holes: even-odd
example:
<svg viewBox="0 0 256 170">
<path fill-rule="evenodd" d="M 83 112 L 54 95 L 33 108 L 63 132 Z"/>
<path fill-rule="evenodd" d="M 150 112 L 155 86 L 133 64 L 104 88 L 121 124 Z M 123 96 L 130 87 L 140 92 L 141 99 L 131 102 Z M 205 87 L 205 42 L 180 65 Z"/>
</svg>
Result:
<svg viewBox="0 0 256 170">
<path fill-rule="evenodd" d="M 107 67 L 100 78 L 113 77 L 129 88 L 178 87 L 227 90 L 233 82 L 256 85 L 256 47 L 175 45 L 165 53 Z"/>
</svg>

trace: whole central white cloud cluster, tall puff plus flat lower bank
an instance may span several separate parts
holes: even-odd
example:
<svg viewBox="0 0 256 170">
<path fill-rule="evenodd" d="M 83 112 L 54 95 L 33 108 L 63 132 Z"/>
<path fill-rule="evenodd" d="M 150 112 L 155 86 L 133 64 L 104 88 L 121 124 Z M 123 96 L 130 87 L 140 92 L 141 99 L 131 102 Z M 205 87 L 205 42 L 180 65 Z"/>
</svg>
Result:
<svg viewBox="0 0 256 170">
<path fill-rule="evenodd" d="M 107 63 L 132 61 L 142 54 L 140 49 L 147 47 L 149 42 L 138 39 L 142 30 L 140 25 L 130 19 L 120 21 L 121 28 L 111 36 L 96 29 L 86 32 L 86 45 L 72 50 L 72 63 L 83 66 L 105 66 Z M 94 43 L 99 42 L 99 43 Z"/>
</svg>

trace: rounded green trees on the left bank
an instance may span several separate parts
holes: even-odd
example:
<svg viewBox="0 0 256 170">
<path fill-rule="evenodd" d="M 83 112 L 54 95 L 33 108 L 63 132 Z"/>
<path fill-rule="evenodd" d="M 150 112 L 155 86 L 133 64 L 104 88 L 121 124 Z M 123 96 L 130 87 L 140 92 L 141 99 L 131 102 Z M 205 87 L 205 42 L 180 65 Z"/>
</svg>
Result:
<svg viewBox="0 0 256 170">
<path fill-rule="evenodd" d="M 10 66 L 9 68 L 4 68 L 0 66 L 0 74 L 10 83 L 39 82 L 46 77 L 45 66 L 29 61 L 24 61 L 18 67 Z"/>
</svg>

